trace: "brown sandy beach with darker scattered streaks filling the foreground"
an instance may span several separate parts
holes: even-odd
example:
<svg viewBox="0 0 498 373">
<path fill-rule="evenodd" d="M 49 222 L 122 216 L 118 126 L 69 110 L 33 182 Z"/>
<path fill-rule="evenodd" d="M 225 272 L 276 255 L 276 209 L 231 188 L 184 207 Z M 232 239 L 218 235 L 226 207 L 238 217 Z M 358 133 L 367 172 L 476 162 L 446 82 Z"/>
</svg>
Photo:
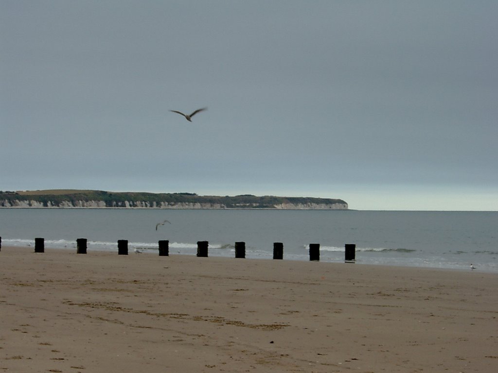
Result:
<svg viewBox="0 0 498 373">
<path fill-rule="evenodd" d="M 0 372 L 498 372 L 498 275 L 3 247 Z"/>
</svg>

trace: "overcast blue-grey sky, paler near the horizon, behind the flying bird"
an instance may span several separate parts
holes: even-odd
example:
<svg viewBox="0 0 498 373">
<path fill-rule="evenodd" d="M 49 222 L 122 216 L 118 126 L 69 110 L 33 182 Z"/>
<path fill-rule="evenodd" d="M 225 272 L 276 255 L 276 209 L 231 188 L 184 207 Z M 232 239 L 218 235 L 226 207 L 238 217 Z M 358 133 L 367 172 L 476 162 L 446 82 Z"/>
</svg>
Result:
<svg viewBox="0 0 498 373">
<path fill-rule="evenodd" d="M 0 0 L 0 17 L 0 190 L 498 210 L 497 1 Z"/>
</svg>

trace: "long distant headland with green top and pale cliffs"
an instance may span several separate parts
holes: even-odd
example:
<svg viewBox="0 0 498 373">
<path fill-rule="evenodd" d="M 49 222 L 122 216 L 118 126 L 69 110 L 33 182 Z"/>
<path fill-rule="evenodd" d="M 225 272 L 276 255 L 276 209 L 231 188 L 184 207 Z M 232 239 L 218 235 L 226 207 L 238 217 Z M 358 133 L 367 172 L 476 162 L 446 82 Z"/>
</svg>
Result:
<svg viewBox="0 0 498 373">
<path fill-rule="evenodd" d="M 0 207 L 347 210 L 348 203 L 335 198 L 274 195 L 216 196 L 188 192 L 149 193 L 49 189 L 0 191 Z"/>
</svg>

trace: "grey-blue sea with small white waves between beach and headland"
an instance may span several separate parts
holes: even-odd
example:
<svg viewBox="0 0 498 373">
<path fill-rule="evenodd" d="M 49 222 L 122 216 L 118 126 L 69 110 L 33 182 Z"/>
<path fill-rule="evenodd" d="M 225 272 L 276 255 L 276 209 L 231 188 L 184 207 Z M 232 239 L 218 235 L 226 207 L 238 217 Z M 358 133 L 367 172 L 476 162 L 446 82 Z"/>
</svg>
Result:
<svg viewBox="0 0 498 373">
<path fill-rule="evenodd" d="M 171 224 L 156 224 L 167 219 Z M 197 241 L 209 241 L 209 256 L 235 256 L 246 242 L 247 258 L 269 259 L 273 242 L 283 242 L 284 260 L 309 260 L 310 243 L 320 244 L 320 261 L 343 262 L 344 245 L 356 244 L 356 261 L 498 272 L 498 212 L 0 209 L 4 246 L 76 247 L 117 252 L 117 241 L 157 255 L 169 240 L 170 255 L 195 255 Z M 75 249 L 74 249 L 75 250 Z"/>
</svg>

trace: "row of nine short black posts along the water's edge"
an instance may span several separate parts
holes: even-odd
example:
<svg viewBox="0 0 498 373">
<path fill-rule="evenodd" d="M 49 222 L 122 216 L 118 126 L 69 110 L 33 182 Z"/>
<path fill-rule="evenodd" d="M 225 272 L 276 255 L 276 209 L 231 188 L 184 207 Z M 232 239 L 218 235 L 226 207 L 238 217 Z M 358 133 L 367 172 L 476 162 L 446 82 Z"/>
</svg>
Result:
<svg viewBox="0 0 498 373">
<path fill-rule="evenodd" d="M 34 252 L 43 253 L 45 251 L 45 243 L 43 238 L 34 239 Z M 208 256 L 208 241 L 198 241 L 197 242 L 197 256 L 206 257 Z M 320 260 L 320 244 L 310 244 L 310 261 Z M 1 237 L 0 237 L 0 249 L 1 249 Z M 87 239 L 78 238 L 76 240 L 76 253 L 86 254 L 87 253 Z M 118 240 L 118 255 L 128 255 L 128 240 Z M 169 256 L 169 241 L 160 240 L 159 241 L 159 256 L 167 257 Z M 246 258 L 246 243 L 236 242 L 235 243 L 235 257 L 236 258 Z M 273 259 L 283 259 L 283 243 L 274 242 L 273 243 Z M 346 244 L 345 245 L 345 261 L 346 263 L 354 263 L 356 260 L 356 245 Z"/>
</svg>

